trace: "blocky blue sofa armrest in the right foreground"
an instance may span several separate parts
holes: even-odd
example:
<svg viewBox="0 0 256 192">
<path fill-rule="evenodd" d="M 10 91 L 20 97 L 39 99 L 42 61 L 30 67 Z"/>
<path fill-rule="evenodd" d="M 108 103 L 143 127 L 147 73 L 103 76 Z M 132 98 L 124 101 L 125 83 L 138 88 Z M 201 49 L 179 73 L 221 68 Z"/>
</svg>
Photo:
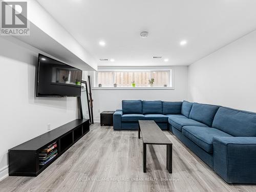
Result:
<svg viewBox="0 0 256 192">
<path fill-rule="evenodd" d="M 256 183 L 256 137 L 214 137 L 214 170 L 227 183 Z"/>
</svg>

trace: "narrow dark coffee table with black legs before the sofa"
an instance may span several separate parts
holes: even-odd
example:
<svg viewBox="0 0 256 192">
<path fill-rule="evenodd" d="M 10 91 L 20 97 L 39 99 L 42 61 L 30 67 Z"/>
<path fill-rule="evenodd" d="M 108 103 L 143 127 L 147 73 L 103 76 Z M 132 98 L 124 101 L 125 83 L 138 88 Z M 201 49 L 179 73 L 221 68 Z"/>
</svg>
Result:
<svg viewBox="0 0 256 192">
<path fill-rule="evenodd" d="M 139 139 L 140 132 L 143 140 L 143 172 L 146 173 L 146 145 L 166 145 L 166 167 L 172 173 L 173 143 L 164 135 L 163 131 L 155 121 L 139 120 Z"/>
</svg>

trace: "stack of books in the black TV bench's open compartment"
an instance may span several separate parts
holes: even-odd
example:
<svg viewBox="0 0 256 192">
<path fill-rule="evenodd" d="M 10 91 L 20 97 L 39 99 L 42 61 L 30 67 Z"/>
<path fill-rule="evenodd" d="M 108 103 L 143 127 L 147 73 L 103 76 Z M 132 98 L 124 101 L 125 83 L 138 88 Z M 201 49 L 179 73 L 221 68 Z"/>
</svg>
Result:
<svg viewBox="0 0 256 192">
<path fill-rule="evenodd" d="M 39 153 L 39 165 L 46 165 L 58 154 L 57 143 L 54 142 Z"/>
</svg>

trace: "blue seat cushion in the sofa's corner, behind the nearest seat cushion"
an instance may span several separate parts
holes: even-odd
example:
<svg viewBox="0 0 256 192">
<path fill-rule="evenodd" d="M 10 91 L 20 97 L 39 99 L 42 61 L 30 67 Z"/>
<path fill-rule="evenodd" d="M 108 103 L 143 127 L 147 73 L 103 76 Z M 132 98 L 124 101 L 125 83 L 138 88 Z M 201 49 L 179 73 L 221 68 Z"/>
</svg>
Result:
<svg viewBox="0 0 256 192">
<path fill-rule="evenodd" d="M 198 121 L 195 121 L 193 119 L 188 118 L 180 118 L 180 117 L 170 117 L 168 122 L 173 125 L 176 129 L 181 131 L 183 126 L 204 126 L 207 127 L 207 125 L 200 123 Z"/>
</svg>

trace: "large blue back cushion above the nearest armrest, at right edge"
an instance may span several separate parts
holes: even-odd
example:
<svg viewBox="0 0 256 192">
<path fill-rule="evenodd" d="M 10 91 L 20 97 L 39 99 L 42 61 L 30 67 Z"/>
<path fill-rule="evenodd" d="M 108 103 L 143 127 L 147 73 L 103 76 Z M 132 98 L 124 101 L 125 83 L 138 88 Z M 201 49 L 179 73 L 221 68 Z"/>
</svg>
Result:
<svg viewBox="0 0 256 192">
<path fill-rule="evenodd" d="M 212 127 L 234 137 L 256 137 L 256 113 L 220 107 Z"/>
</svg>

